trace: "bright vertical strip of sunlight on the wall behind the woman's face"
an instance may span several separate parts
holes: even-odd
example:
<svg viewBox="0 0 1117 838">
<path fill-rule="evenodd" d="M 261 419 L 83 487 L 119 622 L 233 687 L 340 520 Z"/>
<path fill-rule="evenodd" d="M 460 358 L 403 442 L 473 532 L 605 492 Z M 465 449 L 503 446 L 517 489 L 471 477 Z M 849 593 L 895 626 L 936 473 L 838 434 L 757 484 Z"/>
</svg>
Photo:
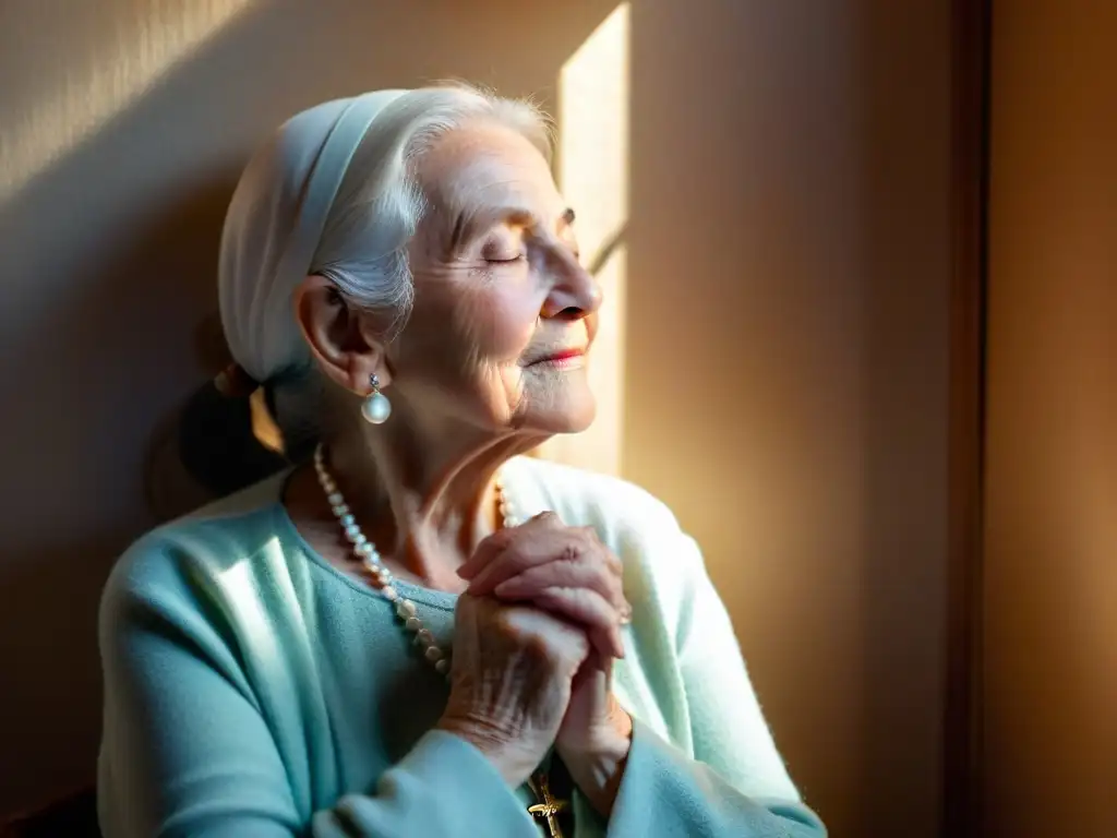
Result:
<svg viewBox="0 0 1117 838">
<path fill-rule="evenodd" d="M 563 65 L 557 117 L 558 187 L 577 212 L 583 261 L 596 270 L 605 303 L 590 370 L 598 419 L 584 434 L 551 440 L 542 454 L 618 474 L 629 198 L 629 3 L 618 6 Z"/>
</svg>

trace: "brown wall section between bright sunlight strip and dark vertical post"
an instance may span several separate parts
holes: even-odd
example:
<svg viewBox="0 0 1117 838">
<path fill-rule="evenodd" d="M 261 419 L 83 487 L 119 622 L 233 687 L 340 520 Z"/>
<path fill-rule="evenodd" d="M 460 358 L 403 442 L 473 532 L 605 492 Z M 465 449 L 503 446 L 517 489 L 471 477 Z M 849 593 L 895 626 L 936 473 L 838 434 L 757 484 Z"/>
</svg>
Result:
<svg viewBox="0 0 1117 838">
<path fill-rule="evenodd" d="M 632 15 L 624 470 L 704 544 L 833 834 L 935 835 L 948 3 Z"/>
</svg>

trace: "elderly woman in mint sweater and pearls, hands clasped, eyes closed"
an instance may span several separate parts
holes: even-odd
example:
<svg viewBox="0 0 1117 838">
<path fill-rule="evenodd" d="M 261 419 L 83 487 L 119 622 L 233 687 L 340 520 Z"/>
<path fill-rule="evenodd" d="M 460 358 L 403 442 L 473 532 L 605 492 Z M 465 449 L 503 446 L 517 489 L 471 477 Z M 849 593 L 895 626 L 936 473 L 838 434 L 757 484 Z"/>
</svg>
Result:
<svg viewBox="0 0 1117 838">
<path fill-rule="evenodd" d="M 601 304 L 535 109 L 295 116 L 220 304 L 293 465 L 108 581 L 108 838 L 824 834 L 670 511 L 523 456 L 592 420 Z"/>
</svg>

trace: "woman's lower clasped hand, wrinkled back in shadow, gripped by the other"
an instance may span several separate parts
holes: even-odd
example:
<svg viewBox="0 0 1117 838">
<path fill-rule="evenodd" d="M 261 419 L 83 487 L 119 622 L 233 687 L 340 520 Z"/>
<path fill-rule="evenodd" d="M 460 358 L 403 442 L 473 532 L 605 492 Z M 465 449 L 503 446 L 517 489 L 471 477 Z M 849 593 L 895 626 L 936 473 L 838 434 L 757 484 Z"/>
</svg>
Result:
<svg viewBox="0 0 1117 838">
<path fill-rule="evenodd" d="M 465 593 L 455 609 L 450 696 L 437 727 L 477 747 L 516 788 L 557 740 L 589 651 L 581 627 Z"/>
</svg>

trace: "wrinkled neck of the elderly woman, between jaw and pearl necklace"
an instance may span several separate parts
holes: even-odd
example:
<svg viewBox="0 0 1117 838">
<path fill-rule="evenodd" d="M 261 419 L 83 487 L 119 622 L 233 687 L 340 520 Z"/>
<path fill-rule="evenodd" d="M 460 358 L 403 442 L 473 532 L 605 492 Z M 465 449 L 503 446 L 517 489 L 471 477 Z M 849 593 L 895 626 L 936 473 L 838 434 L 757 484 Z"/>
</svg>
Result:
<svg viewBox="0 0 1117 838">
<path fill-rule="evenodd" d="M 397 573 L 460 590 L 455 571 L 499 526 L 500 466 L 550 435 L 395 416 L 373 426 L 359 411 L 345 413 L 326 440 L 327 461 L 357 524 Z"/>
</svg>

